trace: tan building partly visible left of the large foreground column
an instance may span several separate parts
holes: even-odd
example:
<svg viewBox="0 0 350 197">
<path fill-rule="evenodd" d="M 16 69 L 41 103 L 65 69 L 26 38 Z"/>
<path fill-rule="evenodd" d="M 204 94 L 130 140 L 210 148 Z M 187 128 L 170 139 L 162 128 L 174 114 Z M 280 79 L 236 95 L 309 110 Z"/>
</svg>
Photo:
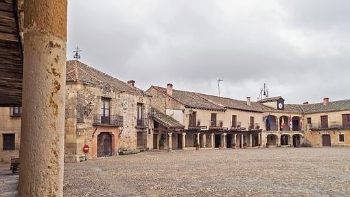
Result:
<svg viewBox="0 0 350 197">
<path fill-rule="evenodd" d="M 19 157 L 21 114 L 21 107 L 0 108 L 0 163 Z"/>
</svg>

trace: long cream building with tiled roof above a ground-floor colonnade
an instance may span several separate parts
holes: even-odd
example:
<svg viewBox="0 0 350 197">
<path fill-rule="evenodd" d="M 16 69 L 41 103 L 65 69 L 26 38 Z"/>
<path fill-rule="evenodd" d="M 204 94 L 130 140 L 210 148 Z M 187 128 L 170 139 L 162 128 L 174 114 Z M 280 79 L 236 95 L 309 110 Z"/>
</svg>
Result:
<svg viewBox="0 0 350 197">
<path fill-rule="evenodd" d="M 261 144 L 261 121 L 264 111 L 247 101 L 216 97 L 202 93 L 151 86 L 151 105 L 178 121 L 183 129 L 159 130 L 154 124 L 154 139 L 163 139 L 165 148 L 257 147 Z M 154 148 L 156 148 L 154 146 Z"/>
</svg>

